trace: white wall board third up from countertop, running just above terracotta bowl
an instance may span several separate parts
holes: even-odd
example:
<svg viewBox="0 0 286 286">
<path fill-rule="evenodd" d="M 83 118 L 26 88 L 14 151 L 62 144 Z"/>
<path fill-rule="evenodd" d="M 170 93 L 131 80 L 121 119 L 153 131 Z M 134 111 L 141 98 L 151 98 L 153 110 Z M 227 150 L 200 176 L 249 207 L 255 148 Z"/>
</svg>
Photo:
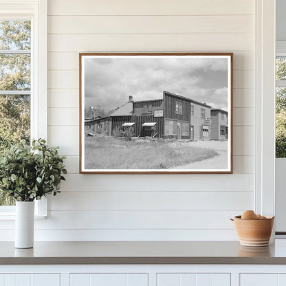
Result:
<svg viewBox="0 0 286 286">
<path fill-rule="evenodd" d="M 213 203 L 217 201 L 217 203 Z M 246 201 L 246 203 L 245 203 Z M 49 210 L 243 210 L 251 209 L 253 192 L 61 192 Z"/>
</svg>

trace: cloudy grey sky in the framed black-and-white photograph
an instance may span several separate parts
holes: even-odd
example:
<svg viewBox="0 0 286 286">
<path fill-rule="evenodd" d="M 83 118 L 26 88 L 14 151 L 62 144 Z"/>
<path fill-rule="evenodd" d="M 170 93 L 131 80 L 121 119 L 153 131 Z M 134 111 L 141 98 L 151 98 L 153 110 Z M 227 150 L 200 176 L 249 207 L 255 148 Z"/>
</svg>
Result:
<svg viewBox="0 0 286 286">
<path fill-rule="evenodd" d="M 109 111 L 170 91 L 228 109 L 227 58 L 85 58 L 85 108 Z"/>
</svg>

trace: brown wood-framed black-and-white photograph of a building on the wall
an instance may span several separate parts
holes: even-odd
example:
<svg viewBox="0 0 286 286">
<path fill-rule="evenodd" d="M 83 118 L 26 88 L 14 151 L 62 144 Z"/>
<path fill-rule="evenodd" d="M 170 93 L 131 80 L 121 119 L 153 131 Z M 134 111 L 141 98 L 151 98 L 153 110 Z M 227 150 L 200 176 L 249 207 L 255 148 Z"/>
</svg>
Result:
<svg viewBox="0 0 286 286">
<path fill-rule="evenodd" d="M 80 173 L 232 173 L 232 56 L 80 54 Z"/>
</svg>

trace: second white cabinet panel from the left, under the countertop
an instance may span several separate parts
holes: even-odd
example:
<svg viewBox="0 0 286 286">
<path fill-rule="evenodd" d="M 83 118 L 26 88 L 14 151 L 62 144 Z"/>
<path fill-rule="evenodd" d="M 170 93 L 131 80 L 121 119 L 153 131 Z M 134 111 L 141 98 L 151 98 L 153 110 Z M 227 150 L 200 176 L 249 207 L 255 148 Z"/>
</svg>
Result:
<svg viewBox="0 0 286 286">
<path fill-rule="evenodd" d="M 146 286 L 148 274 L 69 274 L 69 286 Z"/>
</svg>

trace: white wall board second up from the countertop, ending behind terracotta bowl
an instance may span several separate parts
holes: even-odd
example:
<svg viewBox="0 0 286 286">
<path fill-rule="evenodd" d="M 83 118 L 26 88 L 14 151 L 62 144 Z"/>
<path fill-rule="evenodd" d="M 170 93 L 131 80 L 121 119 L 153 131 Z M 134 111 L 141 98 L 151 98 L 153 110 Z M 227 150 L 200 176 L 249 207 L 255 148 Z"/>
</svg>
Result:
<svg viewBox="0 0 286 286">
<path fill-rule="evenodd" d="M 243 210 L 56 210 L 36 221 L 36 230 L 88 229 L 232 229 L 230 217 Z"/>
</svg>

